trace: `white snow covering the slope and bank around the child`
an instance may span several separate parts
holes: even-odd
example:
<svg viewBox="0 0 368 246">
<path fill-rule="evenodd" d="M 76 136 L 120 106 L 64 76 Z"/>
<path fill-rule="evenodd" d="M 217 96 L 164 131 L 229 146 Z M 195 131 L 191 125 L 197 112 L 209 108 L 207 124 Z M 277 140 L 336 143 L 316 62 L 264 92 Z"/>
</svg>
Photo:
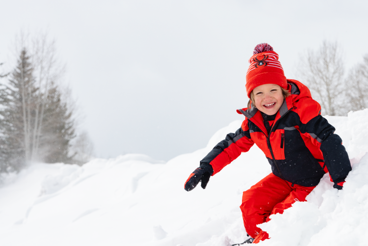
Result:
<svg viewBox="0 0 368 246">
<path fill-rule="evenodd" d="M 326 116 L 343 139 L 353 170 L 344 189 L 325 175 L 307 197 L 260 225 L 260 246 L 367 246 L 368 109 Z M 254 146 L 210 178 L 184 191 L 199 161 L 241 120 L 220 129 L 204 149 L 167 163 L 124 155 L 75 164 L 33 164 L 1 176 L 0 242 L 6 246 L 229 246 L 247 239 L 242 191 L 269 174 Z M 195 139 L 193 139 L 195 141 Z"/>
</svg>

